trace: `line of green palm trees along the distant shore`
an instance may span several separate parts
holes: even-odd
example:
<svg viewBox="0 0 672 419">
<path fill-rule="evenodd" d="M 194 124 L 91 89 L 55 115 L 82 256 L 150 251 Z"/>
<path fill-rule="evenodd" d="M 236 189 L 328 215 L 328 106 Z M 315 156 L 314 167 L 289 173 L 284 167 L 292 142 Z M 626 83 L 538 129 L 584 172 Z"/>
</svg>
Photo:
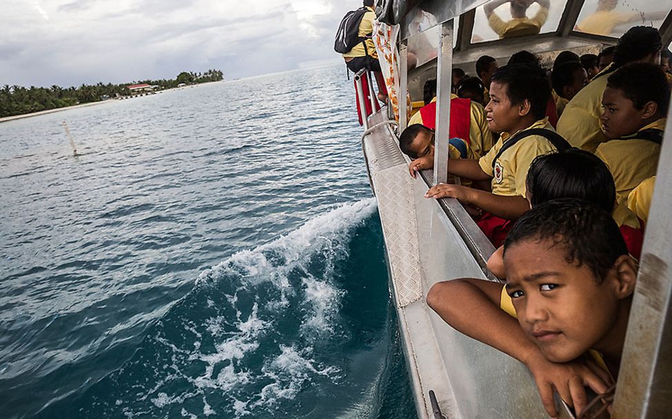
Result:
<svg viewBox="0 0 672 419">
<path fill-rule="evenodd" d="M 164 90 L 177 88 L 181 83 L 197 84 L 222 79 L 224 79 L 224 73 L 221 71 L 208 70 L 204 73 L 181 72 L 175 79 L 140 80 L 122 84 L 83 84 L 78 88 L 74 86 L 61 88 L 57 85 L 52 85 L 50 88 L 3 85 L 0 88 L 0 118 L 131 96 L 132 93 L 128 90 L 128 86 L 134 84 L 146 83 L 157 86 L 156 90 Z"/>
</svg>

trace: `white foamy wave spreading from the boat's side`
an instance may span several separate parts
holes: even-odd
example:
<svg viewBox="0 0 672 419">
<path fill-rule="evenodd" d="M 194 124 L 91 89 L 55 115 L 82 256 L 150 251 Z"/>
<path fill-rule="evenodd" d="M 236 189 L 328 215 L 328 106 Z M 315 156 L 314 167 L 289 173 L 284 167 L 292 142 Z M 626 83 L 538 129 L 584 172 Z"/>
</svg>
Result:
<svg viewBox="0 0 672 419">
<path fill-rule="evenodd" d="M 346 374 L 332 356 L 349 333 L 337 278 L 355 227 L 375 210 L 373 198 L 336 207 L 202 272 L 131 360 L 50 413 L 294 416 L 297 395 Z"/>
</svg>

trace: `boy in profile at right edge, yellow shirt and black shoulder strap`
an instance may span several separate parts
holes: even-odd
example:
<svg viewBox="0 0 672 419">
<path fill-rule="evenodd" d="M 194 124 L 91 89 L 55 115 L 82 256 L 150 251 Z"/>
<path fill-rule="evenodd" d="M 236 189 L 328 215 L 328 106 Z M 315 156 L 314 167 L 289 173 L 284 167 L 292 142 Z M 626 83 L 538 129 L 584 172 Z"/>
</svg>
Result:
<svg viewBox="0 0 672 419">
<path fill-rule="evenodd" d="M 669 101 L 669 84 L 659 65 L 633 63 L 609 76 L 601 121 L 610 141 L 595 154 L 609 166 L 622 200 L 656 172 Z"/>
</svg>

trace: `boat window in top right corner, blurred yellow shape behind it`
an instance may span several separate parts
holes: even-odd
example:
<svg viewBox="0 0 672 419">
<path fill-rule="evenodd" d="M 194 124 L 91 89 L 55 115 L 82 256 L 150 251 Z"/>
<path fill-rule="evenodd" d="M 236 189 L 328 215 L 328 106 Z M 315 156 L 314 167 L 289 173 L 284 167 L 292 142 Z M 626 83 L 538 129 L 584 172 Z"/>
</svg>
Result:
<svg viewBox="0 0 672 419">
<path fill-rule="evenodd" d="M 620 38 L 635 25 L 660 28 L 671 8 L 672 0 L 586 0 L 575 30 Z"/>
</svg>

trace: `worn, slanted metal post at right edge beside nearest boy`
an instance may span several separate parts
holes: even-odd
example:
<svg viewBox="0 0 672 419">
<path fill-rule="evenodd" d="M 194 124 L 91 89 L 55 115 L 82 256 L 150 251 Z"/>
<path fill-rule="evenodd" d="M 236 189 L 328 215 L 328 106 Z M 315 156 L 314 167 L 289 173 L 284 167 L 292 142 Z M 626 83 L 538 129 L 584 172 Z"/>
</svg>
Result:
<svg viewBox="0 0 672 419">
<path fill-rule="evenodd" d="M 668 118 L 672 117 L 671 113 Z M 669 418 L 672 411 L 672 129 L 665 131 L 630 309 L 612 418 Z"/>
</svg>

